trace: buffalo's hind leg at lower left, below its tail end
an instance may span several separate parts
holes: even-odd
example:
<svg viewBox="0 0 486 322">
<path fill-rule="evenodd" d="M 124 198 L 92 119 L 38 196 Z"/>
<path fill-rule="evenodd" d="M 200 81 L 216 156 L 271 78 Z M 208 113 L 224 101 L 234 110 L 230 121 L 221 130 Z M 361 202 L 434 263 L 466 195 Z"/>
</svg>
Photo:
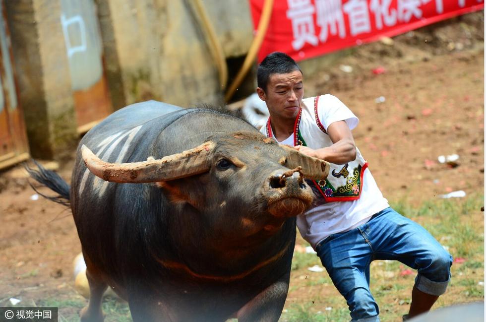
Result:
<svg viewBox="0 0 486 322">
<path fill-rule="evenodd" d="M 89 284 L 89 301 L 88 306 L 84 307 L 79 313 L 79 317 L 81 322 L 103 322 L 104 316 L 101 309 L 101 302 L 108 284 L 97 276 L 96 273 L 93 273 L 93 271 L 96 272 L 96 270 L 89 264 L 88 260 L 86 260 L 86 265 L 86 277 Z"/>
</svg>

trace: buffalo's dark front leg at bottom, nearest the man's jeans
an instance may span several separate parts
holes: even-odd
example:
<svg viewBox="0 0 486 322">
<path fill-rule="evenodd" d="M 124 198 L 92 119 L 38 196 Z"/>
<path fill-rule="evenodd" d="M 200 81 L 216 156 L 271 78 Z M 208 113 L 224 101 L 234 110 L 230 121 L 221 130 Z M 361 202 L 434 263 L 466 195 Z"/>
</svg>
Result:
<svg viewBox="0 0 486 322">
<path fill-rule="evenodd" d="M 238 322 L 277 322 L 289 291 L 289 278 L 290 272 L 246 303 L 238 311 Z"/>
</svg>

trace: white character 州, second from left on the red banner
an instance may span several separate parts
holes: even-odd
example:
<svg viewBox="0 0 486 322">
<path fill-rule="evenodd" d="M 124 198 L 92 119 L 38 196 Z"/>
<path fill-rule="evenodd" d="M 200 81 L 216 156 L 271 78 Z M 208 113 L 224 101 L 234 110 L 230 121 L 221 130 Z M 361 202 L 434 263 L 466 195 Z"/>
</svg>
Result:
<svg viewBox="0 0 486 322">
<path fill-rule="evenodd" d="M 317 25 L 321 28 L 319 39 L 326 42 L 329 33 L 339 37 L 346 37 L 346 26 L 344 25 L 344 14 L 341 0 L 315 0 L 317 10 Z"/>
</svg>

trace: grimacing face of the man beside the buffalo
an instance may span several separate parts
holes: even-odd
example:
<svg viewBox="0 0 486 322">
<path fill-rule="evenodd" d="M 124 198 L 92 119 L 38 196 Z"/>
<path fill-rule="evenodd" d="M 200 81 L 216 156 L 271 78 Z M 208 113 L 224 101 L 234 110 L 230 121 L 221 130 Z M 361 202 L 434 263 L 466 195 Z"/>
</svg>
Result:
<svg viewBox="0 0 486 322">
<path fill-rule="evenodd" d="M 300 70 L 286 74 L 271 74 L 266 91 L 256 89 L 265 101 L 270 115 L 279 119 L 295 120 L 304 98 L 304 84 Z"/>
</svg>

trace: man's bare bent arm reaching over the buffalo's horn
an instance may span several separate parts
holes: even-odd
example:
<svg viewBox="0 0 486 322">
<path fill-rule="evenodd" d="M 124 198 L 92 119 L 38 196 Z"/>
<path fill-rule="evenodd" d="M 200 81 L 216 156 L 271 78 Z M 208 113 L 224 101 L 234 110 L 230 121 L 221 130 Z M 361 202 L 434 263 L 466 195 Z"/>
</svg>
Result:
<svg viewBox="0 0 486 322">
<path fill-rule="evenodd" d="M 295 149 L 305 155 L 334 164 L 345 164 L 356 159 L 355 140 L 345 121 L 331 123 L 327 128 L 327 134 L 329 134 L 331 141 L 334 143 L 331 146 L 314 150 L 306 146 L 297 145 Z"/>
</svg>

